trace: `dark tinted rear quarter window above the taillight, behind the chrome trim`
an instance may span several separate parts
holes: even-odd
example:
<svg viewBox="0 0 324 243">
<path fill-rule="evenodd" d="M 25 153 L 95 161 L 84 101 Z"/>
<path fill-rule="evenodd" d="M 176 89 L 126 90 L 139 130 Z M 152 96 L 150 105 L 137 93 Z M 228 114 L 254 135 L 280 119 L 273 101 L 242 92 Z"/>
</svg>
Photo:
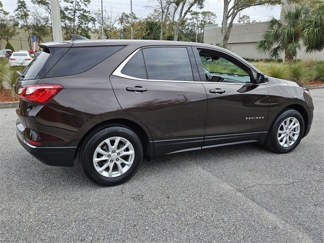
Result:
<svg viewBox="0 0 324 243">
<path fill-rule="evenodd" d="M 85 72 L 124 46 L 70 48 L 45 77 L 60 77 Z"/>
</svg>

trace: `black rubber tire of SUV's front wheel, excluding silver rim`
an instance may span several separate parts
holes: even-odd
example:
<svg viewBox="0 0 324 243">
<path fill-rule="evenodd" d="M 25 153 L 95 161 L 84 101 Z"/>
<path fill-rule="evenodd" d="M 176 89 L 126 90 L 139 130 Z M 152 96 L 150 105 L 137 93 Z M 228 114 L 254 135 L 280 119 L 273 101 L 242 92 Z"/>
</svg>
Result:
<svg viewBox="0 0 324 243">
<path fill-rule="evenodd" d="M 299 133 L 299 136 L 294 144 L 292 144 L 289 147 L 282 147 L 279 144 L 278 139 L 277 139 L 278 129 L 279 129 L 279 126 L 281 125 L 281 123 L 289 117 L 295 117 L 296 119 L 298 119 L 299 125 L 300 125 L 300 133 Z M 304 129 L 305 129 L 305 123 L 304 123 L 304 119 L 303 119 L 303 116 L 301 115 L 301 113 L 299 113 L 297 110 L 294 110 L 294 109 L 284 109 L 274 119 L 274 121 L 270 127 L 270 130 L 268 132 L 268 135 L 267 135 L 264 145 L 269 150 L 276 152 L 276 153 L 291 152 L 298 146 L 298 144 L 302 140 L 303 134 L 304 134 Z"/>
</svg>

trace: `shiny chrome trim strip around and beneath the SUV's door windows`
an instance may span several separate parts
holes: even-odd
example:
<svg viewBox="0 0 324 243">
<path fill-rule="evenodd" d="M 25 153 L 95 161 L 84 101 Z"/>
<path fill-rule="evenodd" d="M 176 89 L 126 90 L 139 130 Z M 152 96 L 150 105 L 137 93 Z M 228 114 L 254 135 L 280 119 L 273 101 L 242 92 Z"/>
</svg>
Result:
<svg viewBox="0 0 324 243">
<path fill-rule="evenodd" d="M 158 46 L 156 46 L 158 47 Z M 141 51 L 142 49 L 145 49 L 145 47 L 141 47 L 137 50 L 135 50 L 131 55 L 129 55 L 122 63 L 119 64 L 119 66 L 112 72 L 111 75 L 114 76 L 118 76 L 118 77 L 124 77 L 124 78 L 128 78 L 128 79 L 133 79 L 133 80 L 140 80 L 140 81 L 150 81 L 150 82 L 172 82 L 172 83 L 188 83 L 188 84 L 216 84 L 216 85 L 220 85 L 220 84 L 225 84 L 225 85 L 266 85 L 267 83 L 263 83 L 263 84 L 253 84 L 253 83 L 219 83 L 219 82 L 204 82 L 204 81 L 180 81 L 180 80 L 162 80 L 162 79 L 144 79 L 144 78 L 138 78 L 138 77 L 132 77 L 129 75 L 126 75 L 124 73 L 121 72 L 121 70 L 123 70 L 123 68 L 125 67 L 125 65 L 129 62 L 129 60 L 131 60 L 131 58 L 139 51 Z"/>
</svg>

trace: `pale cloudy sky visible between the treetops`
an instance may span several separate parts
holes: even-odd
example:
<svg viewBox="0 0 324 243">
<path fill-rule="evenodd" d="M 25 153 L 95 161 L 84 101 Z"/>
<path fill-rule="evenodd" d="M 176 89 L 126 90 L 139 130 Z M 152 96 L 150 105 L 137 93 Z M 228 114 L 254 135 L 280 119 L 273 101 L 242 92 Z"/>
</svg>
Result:
<svg viewBox="0 0 324 243">
<path fill-rule="evenodd" d="M 14 14 L 14 10 L 17 6 L 17 0 L 1 0 L 3 3 L 4 9 L 10 14 Z M 28 7 L 32 8 L 31 0 L 25 0 Z M 133 13 L 136 14 L 137 17 L 145 18 L 152 12 L 147 6 L 152 6 L 153 2 L 151 0 L 133 0 Z M 62 5 L 64 6 L 64 5 Z M 130 0 L 103 0 L 103 8 L 111 12 L 113 15 L 117 16 L 123 12 L 130 13 Z M 89 5 L 89 10 L 94 11 L 101 9 L 101 0 L 91 0 L 91 4 Z M 205 2 L 204 11 L 211 11 L 216 13 L 217 19 L 216 23 L 219 25 L 222 22 L 222 11 L 223 11 L 223 1 L 221 0 L 207 0 Z M 202 11 L 202 10 L 198 10 Z M 241 15 L 249 15 L 250 20 L 253 21 L 266 21 L 269 20 L 270 17 L 279 18 L 280 16 L 280 6 L 275 7 L 251 7 L 244 11 L 241 11 Z M 237 18 L 236 18 L 237 20 Z M 235 20 L 235 22 L 236 22 Z"/>
</svg>

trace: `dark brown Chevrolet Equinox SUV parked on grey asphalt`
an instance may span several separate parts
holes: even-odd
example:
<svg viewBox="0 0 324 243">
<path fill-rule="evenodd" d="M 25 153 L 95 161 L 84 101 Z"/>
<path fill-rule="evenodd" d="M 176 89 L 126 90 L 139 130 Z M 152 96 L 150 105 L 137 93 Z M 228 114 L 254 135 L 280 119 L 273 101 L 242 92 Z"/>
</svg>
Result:
<svg viewBox="0 0 324 243">
<path fill-rule="evenodd" d="M 37 159 L 111 186 L 143 157 L 259 142 L 292 151 L 311 127 L 310 93 L 222 48 L 169 41 L 39 45 L 17 81 L 17 137 Z"/>
</svg>

